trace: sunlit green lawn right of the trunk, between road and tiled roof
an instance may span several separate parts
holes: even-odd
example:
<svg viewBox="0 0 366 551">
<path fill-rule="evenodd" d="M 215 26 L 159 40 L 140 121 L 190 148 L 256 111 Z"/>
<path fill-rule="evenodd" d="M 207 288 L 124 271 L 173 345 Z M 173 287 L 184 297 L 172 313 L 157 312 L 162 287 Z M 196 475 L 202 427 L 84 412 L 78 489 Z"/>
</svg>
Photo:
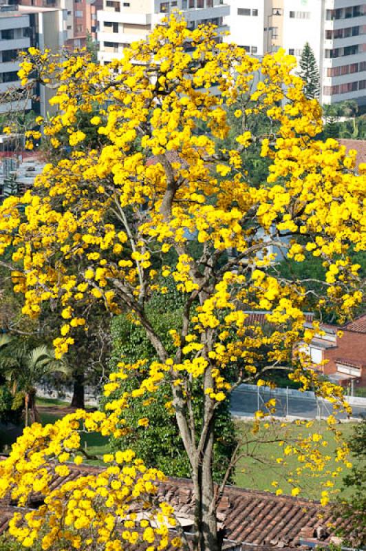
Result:
<svg viewBox="0 0 366 551">
<path fill-rule="evenodd" d="M 344 439 L 349 439 L 352 436 L 354 424 L 344 423 L 339 424 L 336 428 L 341 431 Z M 328 446 L 324 448 L 324 453 L 332 458 L 327 466 L 327 470 L 334 471 L 341 464 L 335 461 L 334 451 L 337 443 L 334 435 L 327 430 L 326 422 L 314 422 L 311 428 L 305 426 L 297 426 L 290 424 L 288 427 L 281 428 L 281 424 L 275 424 L 273 428 L 261 429 L 259 433 L 253 437 L 251 433 L 252 424 L 247 422 L 238 422 L 237 428 L 241 435 L 244 444 L 241 446 L 241 453 L 245 457 L 240 459 L 237 464 L 235 474 L 235 484 L 241 488 L 252 488 L 256 490 L 275 491 L 272 486 L 272 481 L 278 481 L 279 488 L 284 494 L 290 494 L 293 486 L 297 486 L 296 479 L 294 482 L 288 482 L 289 472 L 299 466 L 299 461 L 296 457 L 286 457 L 286 466 L 276 462 L 277 457 L 283 457 L 283 448 L 279 446 L 279 441 L 288 441 L 290 444 L 294 439 L 303 436 L 313 435 L 318 433 L 323 437 L 323 440 L 328 442 Z M 253 440 L 256 439 L 257 443 Z M 262 443 L 260 442 L 262 440 Z M 266 440 L 266 443 L 263 441 Z M 286 446 L 286 444 L 285 444 Z M 347 468 L 345 468 L 347 470 Z M 318 477 L 312 477 L 310 472 L 299 477 L 299 486 L 303 488 L 301 495 L 312 499 L 319 499 L 321 492 L 321 481 L 325 481 L 330 477 L 320 473 Z M 332 478 L 334 488 L 340 490 L 343 486 L 342 476 Z"/>
</svg>

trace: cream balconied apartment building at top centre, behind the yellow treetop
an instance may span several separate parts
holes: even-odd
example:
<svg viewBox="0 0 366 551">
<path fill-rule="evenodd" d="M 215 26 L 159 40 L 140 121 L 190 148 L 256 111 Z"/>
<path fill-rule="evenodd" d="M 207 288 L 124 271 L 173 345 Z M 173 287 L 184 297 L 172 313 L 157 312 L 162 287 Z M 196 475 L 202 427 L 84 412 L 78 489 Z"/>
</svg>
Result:
<svg viewBox="0 0 366 551">
<path fill-rule="evenodd" d="M 213 23 L 228 30 L 224 18 L 229 8 L 224 0 L 103 0 L 98 11 L 98 59 L 103 65 L 122 54 L 123 48 L 147 37 L 162 17 L 173 10 L 182 11 L 194 29 Z"/>
</svg>

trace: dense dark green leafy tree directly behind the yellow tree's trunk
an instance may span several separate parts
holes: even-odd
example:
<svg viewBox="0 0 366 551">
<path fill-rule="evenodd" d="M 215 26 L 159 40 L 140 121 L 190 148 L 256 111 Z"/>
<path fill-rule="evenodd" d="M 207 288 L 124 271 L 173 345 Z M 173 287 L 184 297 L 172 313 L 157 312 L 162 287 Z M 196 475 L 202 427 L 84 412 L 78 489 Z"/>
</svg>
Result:
<svg viewBox="0 0 366 551">
<path fill-rule="evenodd" d="M 173 342 L 169 331 L 180 331 L 182 327 L 182 295 L 177 293 L 173 280 L 166 281 L 168 293 L 155 293 L 146 306 L 147 319 L 154 331 L 160 335 L 166 350 L 174 352 Z M 130 315 L 121 315 L 114 319 L 111 327 L 113 348 L 111 356 L 112 371 L 118 371 L 118 362 L 134 364 L 138 360 L 158 360 L 156 351 L 149 341 L 146 331 L 131 320 Z M 136 377 L 125 380 L 116 397 L 123 393 L 136 390 L 147 373 L 143 371 Z M 200 389 L 196 389 L 195 424 L 198 424 L 202 415 L 202 397 Z M 148 467 L 159 467 L 166 475 L 175 477 L 190 477 L 191 469 L 189 458 L 184 450 L 180 437 L 174 410 L 171 406 L 173 399 L 169 384 L 162 384 L 147 400 L 133 399 L 131 406 L 125 412 L 127 426 L 137 428 L 138 421 L 148 418 L 149 424 L 144 430 L 134 430 L 124 437 L 113 439 L 111 449 L 126 450 L 131 448 Z M 105 399 L 105 402 L 108 402 Z M 201 403 L 200 403 L 201 402 Z M 235 426 L 231 419 L 228 402 L 221 404 L 217 411 L 215 426 L 215 444 L 213 453 L 213 478 L 219 482 L 225 475 L 226 469 L 235 448 Z M 231 473 L 229 480 L 234 473 Z"/>
</svg>

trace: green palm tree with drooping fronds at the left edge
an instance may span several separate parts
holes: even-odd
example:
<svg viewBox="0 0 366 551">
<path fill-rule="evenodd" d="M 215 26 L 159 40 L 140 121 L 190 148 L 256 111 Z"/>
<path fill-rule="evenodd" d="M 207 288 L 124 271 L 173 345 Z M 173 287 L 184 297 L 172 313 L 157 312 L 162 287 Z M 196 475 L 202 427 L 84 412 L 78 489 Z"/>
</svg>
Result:
<svg viewBox="0 0 366 551">
<path fill-rule="evenodd" d="M 39 420 L 36 384 L 46 375 L 68 374 L 69 367 L 61 360 L 56 360 L 54 352 L 45 345 L 30 348 L 25 341 L 1 335 L 0 373 L 8 381 L 13 406 L 20 405 L 24 400 L 25 426 L 28 426 L 29 417 L 32 422 Z"/>
</svg>

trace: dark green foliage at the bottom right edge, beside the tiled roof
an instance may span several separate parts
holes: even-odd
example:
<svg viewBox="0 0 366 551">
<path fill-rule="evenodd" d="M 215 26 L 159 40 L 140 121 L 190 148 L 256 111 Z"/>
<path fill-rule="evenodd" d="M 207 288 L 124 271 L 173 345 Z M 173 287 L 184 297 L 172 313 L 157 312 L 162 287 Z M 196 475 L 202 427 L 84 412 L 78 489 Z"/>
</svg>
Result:
<svg viewBox="0 0 366 551">
<path fill-rule="evenodd" d="M 347 545 L 363 549 L 366 545 L 366 419 L 354 428 L 349 448 L 353 466 L 345 477 L 345 489 L 351 490 L 352 495 L 349 499 L 341 499 L 335 512 L 346 521 L 340 535 Z"/>
</svg>

